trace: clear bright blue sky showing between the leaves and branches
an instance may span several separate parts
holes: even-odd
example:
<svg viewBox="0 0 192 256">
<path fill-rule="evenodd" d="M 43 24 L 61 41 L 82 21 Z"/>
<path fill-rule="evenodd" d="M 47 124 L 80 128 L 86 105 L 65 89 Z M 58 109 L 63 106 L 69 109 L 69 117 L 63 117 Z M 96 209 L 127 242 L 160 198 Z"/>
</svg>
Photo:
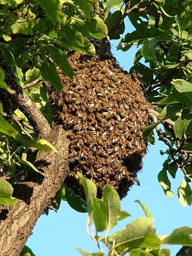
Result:
<svg viewBox="0 0 192 256">
<path fill-rule="evenodd" d="M 126 33 L 134 28 L 126 20 Z M 113 40 L 112 50 L 120 66 L 129 71 L 133 66 L 133 56 L 136 47 L 127 52 L 116 51 L 119 41 Z M 177 197 L 177 187 L 182 183 L 183 174 L 178 170 L 176 178 L 170 178 L 174 195 L 166 197 L 157 175 L 162 169 L 166 156 L 161 156 L 159 150 L 166 149 L 161 141 L 156 139 L 156 145 L 148 146 L 148 154 L 143 159 L 143 170 L 138 174 L 140 186 L 134 185 L 128 196 L 121 201 L 121 209 L 128 211 L 132 217 L 122 220 L 112 231 L 120 230 L 133 219 L 144 216 L 138 203 L 139 199 L 151 210 L 155 219 L 154 226 L 158 235 L 170 234 L 175 228 L 187 225 L 192 227 L 191 206 L 183 207 Z M 85 251 L 96 252 L 97 246 L 86 231 L 87 213 L 73 210 L 67 202 L 62 202 L 58 212 L 49 211 L 49 215 L 42 215 L 33 229 L 33 235 L 28 239 L 27 245 L 36 256 L 79 256 L 75 247 Z M 166 246 L 171 248 L 171 256 L 175 256 L 181 246 Z"/>
</svg>

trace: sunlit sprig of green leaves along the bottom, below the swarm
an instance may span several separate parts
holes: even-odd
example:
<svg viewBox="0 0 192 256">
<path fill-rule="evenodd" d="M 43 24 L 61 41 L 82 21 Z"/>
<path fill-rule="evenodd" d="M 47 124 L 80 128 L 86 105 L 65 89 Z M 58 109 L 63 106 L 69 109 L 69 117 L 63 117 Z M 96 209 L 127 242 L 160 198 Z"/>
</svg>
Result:
<svg viewBox="0 0 192 256">
<path fill-rule="evenodd" d="M 168 244 L 192 246 L 192 229 L 186 226 L 173 230 L 169 236 L 157 236 L 151 212 L 139 200 L 136 200 L 136 202 L 141 205 L 145 217 L 137 218 L 122 230 L 109 234 L 109 231 L 117 225 L 119 220 L 131 215 L 120 210 L 120 198 L 113 187 L 106 185 L 102 198 L 99 199 L 96 197 L 97 188 L 95 184 L 90 179 L 83 177 L 82 174 L 79 173 L 78 175 L 87 198 L 89 213 L 87 225 L 90 226 L 94 223 L 91 232 L 88 231 L 88 233 L 100 249 L 100 252 L 90 253 L 77 248 L 83 256 L 123 256 L 128 252 L 130 256 L 170 256 L 169 249 L 161 249 L 160 247 Z M 98 232 L 103 231 L 105 231 L 105 236 L 98 235 Z M 104 253 L 101 243 L 108 249 L 107 253 Z"/>
</svg>

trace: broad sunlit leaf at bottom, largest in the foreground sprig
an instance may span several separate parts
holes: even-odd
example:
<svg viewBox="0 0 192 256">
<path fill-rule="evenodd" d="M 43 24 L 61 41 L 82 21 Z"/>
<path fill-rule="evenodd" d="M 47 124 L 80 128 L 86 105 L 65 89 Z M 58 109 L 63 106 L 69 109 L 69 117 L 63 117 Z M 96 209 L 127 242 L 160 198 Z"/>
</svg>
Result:
<svg viewBox="0 0 192 256">
<path fill-rule="evenodd" d="M 148 217 L 133 220 L 122 230 L 121 236 L 117 239 L 116 251 L 120 253 L 124 248 L 129 248 L 129 251 L 133 248 L 158 250 L 161 241 L 155 233 L 153 222 L 154 220 Z"/>
</svg>

